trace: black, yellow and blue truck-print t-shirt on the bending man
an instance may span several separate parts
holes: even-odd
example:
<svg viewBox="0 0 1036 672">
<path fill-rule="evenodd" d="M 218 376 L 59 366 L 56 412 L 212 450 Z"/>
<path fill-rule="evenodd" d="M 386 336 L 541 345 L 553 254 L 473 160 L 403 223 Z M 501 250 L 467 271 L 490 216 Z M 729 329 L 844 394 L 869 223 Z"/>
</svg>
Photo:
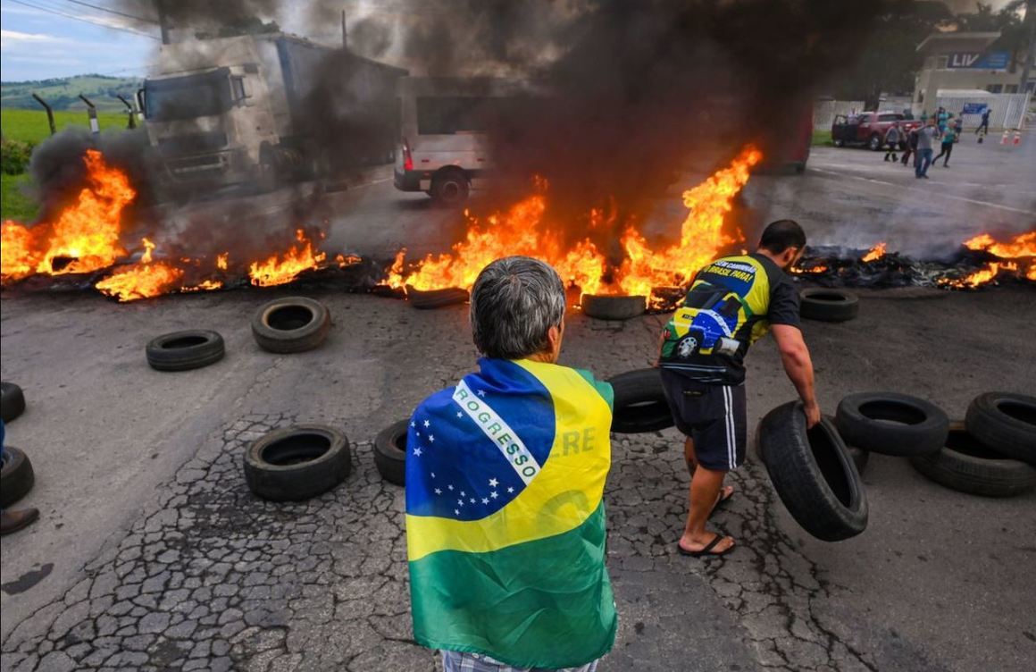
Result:
<svg viewBox="0 0 1036 672">
<path fill-rule="evenodd" d="M 799 327 L 799 292 L 761 254 L 723 257 L 698 271 L 666 325 L 661 366 L 701 383 L 740 385 L 745 355 L 771 325 Z"/>
</svg>

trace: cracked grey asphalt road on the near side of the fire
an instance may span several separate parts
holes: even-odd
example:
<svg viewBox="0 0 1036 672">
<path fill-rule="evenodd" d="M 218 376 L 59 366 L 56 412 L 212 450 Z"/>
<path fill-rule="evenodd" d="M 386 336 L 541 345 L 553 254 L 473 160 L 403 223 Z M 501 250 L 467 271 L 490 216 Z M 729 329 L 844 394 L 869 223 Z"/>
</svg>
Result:
<svg viewBox="0 0 1036 672">
<path fill-rule="evenodd" d="M 295 356 L 258 351 L 249 316 L 290 293 L 130 306 L 5 293 L 3 377 L 29 404 L 8 441 L 33 460 L 37 483 L 21 505 L 41 520 L 3 540 L 0 668 L 436 669 L 411 641 L 403 492 L 381 481 L 370 442 L 471 368 L 465 309 L 317 291 L 335 318 L 328 341 Z M 891 389 L 959 417 L 980 392 L 1032 392 L 1033 292 L 939 297 L 864 293 L 859 319 L 807 324 L 822 407 Z M 961 315 L 989 328 L 944 338 Z M 563 363 L 601 377 L 645 365 L 662 321 L 569 319 Z M 188 326 L 221 331 L 227 359 L 147 368 L 148 338 Z M 748 365 L 754 426 L 794 391 L 772 342 Z M 258 500 L 241 473 L 246 447 L 301 422 L 345 431 L 351 474 L 308 502 Z M 674 548 L 688 480 L 679 436 L 612 439 L 621 624 L 602 670 L 1020 670 L 1036 659 L 1036 494 L 974 498 L 873 455 L 869 529 L 824 543 L 790 520 L 750 451 L 714 517 L 738 550 L 693 560 Z"/>
</svg>

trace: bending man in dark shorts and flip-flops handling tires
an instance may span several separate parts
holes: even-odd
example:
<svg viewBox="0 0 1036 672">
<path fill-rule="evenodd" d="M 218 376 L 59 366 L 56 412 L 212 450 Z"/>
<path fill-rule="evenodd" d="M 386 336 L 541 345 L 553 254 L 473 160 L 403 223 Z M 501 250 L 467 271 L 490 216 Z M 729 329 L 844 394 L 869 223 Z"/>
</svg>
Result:
<svg viewBox="0 0 1036 672">
<path fill-rule="evenodd" d="M 787 376 L 802 397 L 806 421 L 821 420 L 813 365 L 799 328 L 799 293 L 785 271 L 801 256 L 806 234 L 792 220 L 767 226 L 758 249 L 723 257 L 694 277 L 660 341 L 662 385 L 684 455 L 692 470 L 690 510 L 678 543 L 683 555 L 720 556 L 731 537 L 706 530 L 712 511 L 729 499 L 726 473 L 745 459 L 745 354 L 773 331 Z"/>
</svg>

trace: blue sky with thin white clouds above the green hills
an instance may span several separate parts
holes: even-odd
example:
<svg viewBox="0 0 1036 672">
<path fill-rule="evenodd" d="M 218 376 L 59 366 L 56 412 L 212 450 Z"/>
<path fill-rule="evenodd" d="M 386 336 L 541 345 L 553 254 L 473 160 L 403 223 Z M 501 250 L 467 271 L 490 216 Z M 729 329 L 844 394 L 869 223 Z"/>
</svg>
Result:
<svg viewBox="0 0 1036 672">
<path fill-rule="evenodd" d="M 991 4 L 1000 7 L 1007 2 L 992 0 Z M 107 0 L 88 4 L 111 6 Z M 948 4 L 967 10 L 975 3 L 951 0 Z M 69 0 L 0 0 L 0 79 L 38 80 L 85 73 L 143 76 L 159 46 L 157 27 L 140 29 L 144 34 L 138 34 L 127 32 L 135 28 L 124 21 L 116 13 Z M 283 19 L 287 30 L 297 31 L 292 23 L 291 17 Z"/>
</svg>

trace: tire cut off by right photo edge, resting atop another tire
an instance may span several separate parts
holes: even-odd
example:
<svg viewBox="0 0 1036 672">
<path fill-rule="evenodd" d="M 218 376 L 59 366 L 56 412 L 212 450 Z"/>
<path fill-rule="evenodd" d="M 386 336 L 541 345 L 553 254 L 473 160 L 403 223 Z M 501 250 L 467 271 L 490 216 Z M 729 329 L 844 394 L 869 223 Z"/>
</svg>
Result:
<svg viewBox="0 0 1036 672">
<path fill-rule="evenodd" d="M 968 405 L 968 431 L 989 450 L 1036 465 L 1036 397 L 986 392 Z"/>
</svg>

